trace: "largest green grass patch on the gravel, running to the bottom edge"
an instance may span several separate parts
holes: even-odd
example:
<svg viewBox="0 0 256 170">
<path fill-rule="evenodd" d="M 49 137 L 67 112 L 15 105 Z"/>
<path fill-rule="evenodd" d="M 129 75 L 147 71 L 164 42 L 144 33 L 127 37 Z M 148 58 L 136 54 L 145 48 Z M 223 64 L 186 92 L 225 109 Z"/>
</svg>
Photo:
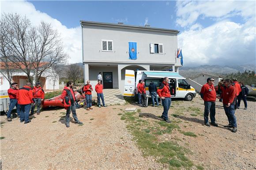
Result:
<svg viewBox="0 0 256 170">
<path fill-rule="evenodd" d="M 149 122 L 139 117 L 136 112 L 124 112 L 121 120 L 125 120 L 127 129 L 132 133 L 133 140 L 142 149 L 144 156 L 154 156 L 160 163 L 166 163 L 170 169 L 191 169 L 193 163 L 185 156 L 191 152 L 179 146 L 176 142 L 160 140 L 159 135 L 172 133 L 173 129 L 180 129 L 177 122 L 164 121 Z"/>
</svg>

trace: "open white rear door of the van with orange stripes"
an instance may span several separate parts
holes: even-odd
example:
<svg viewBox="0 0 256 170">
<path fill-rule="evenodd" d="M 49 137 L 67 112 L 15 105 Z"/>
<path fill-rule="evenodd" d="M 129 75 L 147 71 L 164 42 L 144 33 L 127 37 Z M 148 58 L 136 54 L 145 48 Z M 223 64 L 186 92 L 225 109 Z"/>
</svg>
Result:
<svg viewBox="0 0 256 170">
<path fill-rule="evenodd" d="M 135 74 L 133 70 L 125 70 L 124 96 L 134 96 Z"/>
</svg>

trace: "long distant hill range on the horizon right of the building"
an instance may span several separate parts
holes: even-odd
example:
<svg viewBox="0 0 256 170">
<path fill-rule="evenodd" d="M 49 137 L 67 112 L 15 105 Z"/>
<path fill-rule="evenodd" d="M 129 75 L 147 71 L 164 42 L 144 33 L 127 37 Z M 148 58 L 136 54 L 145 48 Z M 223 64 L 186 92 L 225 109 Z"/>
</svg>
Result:
<svg viewBox="0 0 256 170">
<path fill-rule="evenodd" d="M 200 73 L 210 73 L 222 76 L 224 74 L 237 73 L 238 71 L 244 72 L 245 70 L 255 71 L 256 68 L 250 64 L 241 66 L 202 65 L 198 67 L 180 67 L 179 73 L 185 78 L 192 78 Z"/>
</svg>

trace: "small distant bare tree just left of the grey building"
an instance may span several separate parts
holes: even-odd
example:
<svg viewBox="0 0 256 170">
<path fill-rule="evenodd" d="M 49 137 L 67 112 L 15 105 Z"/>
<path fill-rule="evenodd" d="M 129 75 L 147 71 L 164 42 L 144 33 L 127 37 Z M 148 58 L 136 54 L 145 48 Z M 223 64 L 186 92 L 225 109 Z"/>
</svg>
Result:
<svg viewBox="0 0 256 170">
<path fill-rule="evenodd" d="M 83 75 L 82 68 L 77 64 L 70 64 L 67 67 L 68 79 L 72 80 L 75 84 L 75 81 Z"/>
</svg>

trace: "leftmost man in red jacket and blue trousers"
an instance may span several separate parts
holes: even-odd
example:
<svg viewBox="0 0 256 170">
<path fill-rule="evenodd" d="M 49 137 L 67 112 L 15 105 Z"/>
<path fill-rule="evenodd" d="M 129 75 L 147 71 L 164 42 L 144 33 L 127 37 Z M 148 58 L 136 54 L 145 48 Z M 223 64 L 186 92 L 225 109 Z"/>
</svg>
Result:
<svg viewBox="0 0 256 170">
<path fill-rule="evenodd" d="M 16 111 L 17 111 L 17 114 L 19 116 L 19 112 L 20 112 L 20 109 L 19 109 L 19 104 L 18 104 L 18 100 L 17 100 L 17 92 L 18 92 L 19 88 L 18 88 L 18 83 L 11 83 L 11 88 L 8 89 L 8 95 L 9 95 L 9 98 L 10 98 L 10 105 L 9 105 L 9 110 L 7 112 L 7 121 L 8 122 L 11 122 L 11 111 L 13 110 L 13 108 L 16 106 Z M 16 118 L 17 115 L 15 113 L 12 114 L 12 117 L 13 118 Z"/>
</svg>

